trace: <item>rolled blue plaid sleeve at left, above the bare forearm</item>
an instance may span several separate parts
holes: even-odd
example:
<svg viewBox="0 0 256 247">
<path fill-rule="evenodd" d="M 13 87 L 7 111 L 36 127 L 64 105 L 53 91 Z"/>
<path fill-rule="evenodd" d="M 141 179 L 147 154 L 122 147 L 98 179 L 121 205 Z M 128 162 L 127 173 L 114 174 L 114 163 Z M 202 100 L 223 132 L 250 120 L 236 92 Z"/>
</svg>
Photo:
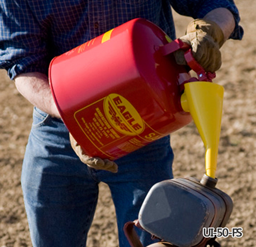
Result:
<svg viewBox="0 0 256 247">
<path fill-rule="evenodd" d="M 48 73 L 47 37 L 27 2 L 0 2 L 0 69 L 10 79 L 26 72 Z"/>
</svg>

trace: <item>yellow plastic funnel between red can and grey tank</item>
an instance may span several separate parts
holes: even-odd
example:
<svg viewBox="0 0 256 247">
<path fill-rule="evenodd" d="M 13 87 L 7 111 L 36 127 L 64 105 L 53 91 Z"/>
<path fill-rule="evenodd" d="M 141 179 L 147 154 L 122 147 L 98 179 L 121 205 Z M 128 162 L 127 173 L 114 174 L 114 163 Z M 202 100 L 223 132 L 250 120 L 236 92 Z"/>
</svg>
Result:
<svg viewBox="0 0 256 247">
<path fill-rule="evenodd" d="M 205 146 L 206 175 L 215 178 L 224 88 L 210 82 L 185 84 L 181 106 L 190 112 Z"/>
</svg>

